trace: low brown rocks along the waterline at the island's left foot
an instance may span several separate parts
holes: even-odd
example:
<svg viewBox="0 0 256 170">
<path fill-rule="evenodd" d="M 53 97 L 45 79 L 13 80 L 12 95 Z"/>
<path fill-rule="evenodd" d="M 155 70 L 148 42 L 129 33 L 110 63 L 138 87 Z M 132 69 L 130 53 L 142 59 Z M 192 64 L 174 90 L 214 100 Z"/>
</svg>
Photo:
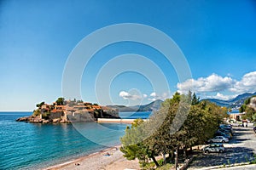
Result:
<svg viewBox="0 0 256 170">
<path fill-rule="evenodd" d="M 32 122 L 32 123 L 69 123 L 70 121 L 62 120 L 61 118 L 48 119 L 38 118 L 34 116 L 25 116 L 16 119 L 16 122 Z"/>
</svg>

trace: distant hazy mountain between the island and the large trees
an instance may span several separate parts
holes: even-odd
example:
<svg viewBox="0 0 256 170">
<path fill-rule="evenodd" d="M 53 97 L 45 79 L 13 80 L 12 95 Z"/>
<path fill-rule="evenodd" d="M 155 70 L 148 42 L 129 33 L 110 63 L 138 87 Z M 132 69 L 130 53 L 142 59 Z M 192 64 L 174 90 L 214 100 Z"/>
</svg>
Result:
<svg viewBox="0 0 256 170">
<path fill-rule="evenodd" d="M 120 112 L 125 111 L 155 111 L 160 109 L 160 105 L 163 101 L 157 99 L 148 105 L 133 105 L 133 106 L 125 106 L 125 105 L 107 105 L 107 107 L 118 109 Z"/>
</svg>

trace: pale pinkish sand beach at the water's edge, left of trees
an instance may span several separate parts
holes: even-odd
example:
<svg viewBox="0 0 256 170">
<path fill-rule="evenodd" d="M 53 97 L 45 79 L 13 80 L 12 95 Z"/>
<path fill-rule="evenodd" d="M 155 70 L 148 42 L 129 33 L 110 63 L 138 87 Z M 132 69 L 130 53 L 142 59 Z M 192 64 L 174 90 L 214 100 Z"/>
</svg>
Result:
<svg viewBox="0 0 256 170">
<path fill-rule="evenodd" d="M 120 146 L 102 150 L 89 156 L 83 156 L 73 161 L 67 161 L 44 170 L 73 170 L 73 169 L 90 169 L 90 170 L 120 170 L 120 169 L 139 169 L 137 160 L 128 161 L 119 150 Z"/>
</svg>

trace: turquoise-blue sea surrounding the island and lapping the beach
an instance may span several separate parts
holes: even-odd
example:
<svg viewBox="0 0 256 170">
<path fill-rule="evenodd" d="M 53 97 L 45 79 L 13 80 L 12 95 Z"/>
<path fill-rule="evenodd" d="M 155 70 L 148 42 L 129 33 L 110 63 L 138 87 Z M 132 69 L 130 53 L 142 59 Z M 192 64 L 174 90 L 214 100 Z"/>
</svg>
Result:
<svg viewBox="0 0 256 170">
<path fill-rule="evenodd" d="M 121 118 L 143 118 L 151 112 L 119 112 Z M 0 112 L 0 170 L 42 169 L 120 144 L 125 123 L 15 122 L 32 112 Z"/>
</svg>

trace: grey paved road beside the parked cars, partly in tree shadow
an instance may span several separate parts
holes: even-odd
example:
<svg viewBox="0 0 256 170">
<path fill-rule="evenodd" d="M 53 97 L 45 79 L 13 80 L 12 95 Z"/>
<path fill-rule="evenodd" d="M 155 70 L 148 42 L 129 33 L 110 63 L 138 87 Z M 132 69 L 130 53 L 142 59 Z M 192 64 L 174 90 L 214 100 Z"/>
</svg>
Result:
<svg viewBox="0 0 256 170">
<path fill-rule="evenodd" d="M 230 140 L 230 144 L 224 144 L 225 153 L 201 154 L 191 163 L 189 170 L 214 169 L 224 165 L 253 161 L 253 153 L 256 153 L 256 135 L 252 127 L 234 127 L 234 130 L 235 135 Z"/>
</svg>

